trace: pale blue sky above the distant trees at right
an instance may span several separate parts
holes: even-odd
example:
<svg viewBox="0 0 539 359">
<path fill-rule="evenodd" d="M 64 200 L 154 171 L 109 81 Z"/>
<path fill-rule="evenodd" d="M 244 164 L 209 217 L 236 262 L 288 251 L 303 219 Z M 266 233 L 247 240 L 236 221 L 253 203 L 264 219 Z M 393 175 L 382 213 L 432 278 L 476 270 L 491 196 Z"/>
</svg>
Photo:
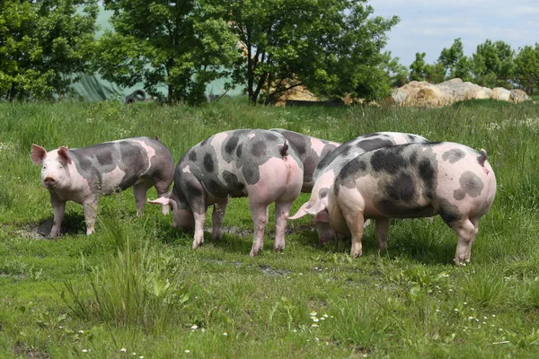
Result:
<svg viewBox="0 0 539 359">
<path fill-rule="evenodd" d="M 375 15 L 401 18 L 388 32 L 384 50 L 410 66 L 416 52 L 431 64 L 456 38 L 472 56 L 486 39 L 503 40 L 518 50 L 539 42 L 538 0 L 369 0 Z"/>
</svg>

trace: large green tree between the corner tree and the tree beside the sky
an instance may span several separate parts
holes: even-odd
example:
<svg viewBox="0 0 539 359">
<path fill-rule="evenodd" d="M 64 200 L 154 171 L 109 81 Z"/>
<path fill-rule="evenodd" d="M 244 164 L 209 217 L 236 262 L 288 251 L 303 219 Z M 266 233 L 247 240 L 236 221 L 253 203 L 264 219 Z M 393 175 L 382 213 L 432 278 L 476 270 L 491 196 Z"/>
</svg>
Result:
<svg viewBox="0 0 539 359">
<path fill-rule="evenodd" d="M 145 83 L 169 101 L 204 101 L 206 85 L 239 57 L 236 39 L 211 0 L 105 0 L 115 32 L 98 43 L 95 67 L 110 82 Z"/>
</svg>

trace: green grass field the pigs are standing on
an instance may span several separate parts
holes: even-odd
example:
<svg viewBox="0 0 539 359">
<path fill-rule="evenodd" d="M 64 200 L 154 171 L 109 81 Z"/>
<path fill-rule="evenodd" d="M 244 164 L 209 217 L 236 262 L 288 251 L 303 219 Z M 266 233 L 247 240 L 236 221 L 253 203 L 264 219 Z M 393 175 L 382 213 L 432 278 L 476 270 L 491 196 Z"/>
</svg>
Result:
<svg viewBox="0 0 539 359">
<path fill-rule="evenodd" d="M 444 109 L 270 108 L 228 100 L 193 109 L 120 103 L 0 103 L 0 357 L 536 357 L 539 350 L 539 105 L 463 102 Z M 375 131 L 485 148 L 494 205 L 472 263 L 439 217 L 394 220 L 388 251 L 374 226 L 362 258 L 321 246 L 310 218 L 288 223 L 287 248 L 249 257 L 252 220 L 230 201 L 224 238 L 191 250 L 192 233 L 130 190 L 100 201 L 87 237 L 68 203 L 56 241 L 31 144 L 70 148 L 160 136 L 175 161 L 226 129 L 282 127 L 344 142 Z M 149 197 L 154 198 L 155 189 Z M 299 197 L 292 213 L 308 199 Z M 271 210 L 270 210 L 271 213 Z M 208 221 L 207 226 L 211 221 Z"/>
</svg>

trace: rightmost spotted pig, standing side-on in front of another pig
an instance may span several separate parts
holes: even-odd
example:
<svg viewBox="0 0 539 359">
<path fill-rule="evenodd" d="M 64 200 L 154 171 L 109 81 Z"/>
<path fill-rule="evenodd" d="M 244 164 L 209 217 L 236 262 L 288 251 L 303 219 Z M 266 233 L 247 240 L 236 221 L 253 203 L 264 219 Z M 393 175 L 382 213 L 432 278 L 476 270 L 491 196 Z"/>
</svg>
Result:
<svg viewBox="0 0 539 359">
<path fill-rule="evenodd" d="M 366 218 L 376 219 L 380 250 L 390 218 L 440 215 L 458 235 L 455 265 L 470 261 L 481 217 L 496 195 L 496 177 L 480 152 L 450 142 L 401 144 L 367 152 L 346 163 L 328 193 L 331 228 L 351 234 L 351 255 L 361 256 Z"/>
</svg>

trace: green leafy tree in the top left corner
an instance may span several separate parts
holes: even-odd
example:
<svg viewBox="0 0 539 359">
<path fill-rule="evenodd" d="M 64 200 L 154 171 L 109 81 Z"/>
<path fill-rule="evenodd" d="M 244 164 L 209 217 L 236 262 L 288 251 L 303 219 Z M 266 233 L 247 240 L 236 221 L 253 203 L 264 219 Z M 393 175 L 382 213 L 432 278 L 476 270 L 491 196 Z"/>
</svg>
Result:
<svg viewBox="0 0 539 359">
<path fill-rule="evenodd" d="M 0 98 L 69 92 L 93 42 L 95 0 L 0 2 Z"/>
</svg>

